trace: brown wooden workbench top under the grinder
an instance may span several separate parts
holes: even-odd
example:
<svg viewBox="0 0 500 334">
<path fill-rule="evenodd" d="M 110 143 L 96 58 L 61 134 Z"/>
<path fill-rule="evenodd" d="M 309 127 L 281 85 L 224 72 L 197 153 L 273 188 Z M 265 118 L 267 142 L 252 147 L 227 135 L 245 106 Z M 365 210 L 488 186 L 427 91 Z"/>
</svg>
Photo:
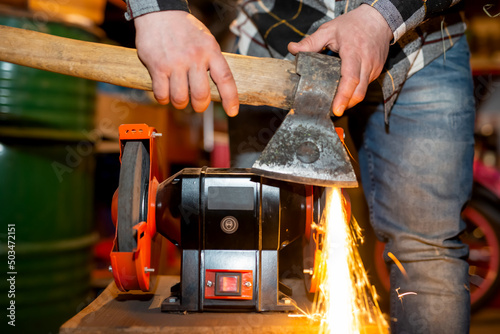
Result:
<svg viewBox="0 0 500 334">
<path fill-rule="evenodd" d="M 88 307 L 68 320 L 60 334 L 83 333 L 317 333 L 318 324 L 280 312 L 164 313 L 161 302 L 168 297 L 175 276 L 159 276 L 154 293 L 122 293 L 111 283 Z M 295 291 L 304 291 L 296 281 Z M 291 286 L 294 287 L 293 285 Z M 304 296 L 295 296 L 304 303 Z M 299 302 L 300 303 L 300 302 Z M 307 307 L 302 304 L 301 306 Z"/>
</svg>

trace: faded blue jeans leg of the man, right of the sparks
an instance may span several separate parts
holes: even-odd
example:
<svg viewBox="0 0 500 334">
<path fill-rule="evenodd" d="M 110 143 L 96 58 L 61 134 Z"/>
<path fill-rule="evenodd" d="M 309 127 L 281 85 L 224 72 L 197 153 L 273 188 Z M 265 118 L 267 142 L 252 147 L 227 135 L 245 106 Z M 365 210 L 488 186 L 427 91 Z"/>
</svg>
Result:
<svg viewBox="0 0 500 334">
<path fill-rule="evenodd" d="M 371 223 L 387 242 L 392 333 L 468 333 L 468 248 L 458 236 L 472 188 L 475 108 L 465 37 L 408 79 L 389 125 L 380 94 L 358 110 L 358 121 L 368 117 L 354 124 L 364 127 L 358 153 Z"/>
</svg>

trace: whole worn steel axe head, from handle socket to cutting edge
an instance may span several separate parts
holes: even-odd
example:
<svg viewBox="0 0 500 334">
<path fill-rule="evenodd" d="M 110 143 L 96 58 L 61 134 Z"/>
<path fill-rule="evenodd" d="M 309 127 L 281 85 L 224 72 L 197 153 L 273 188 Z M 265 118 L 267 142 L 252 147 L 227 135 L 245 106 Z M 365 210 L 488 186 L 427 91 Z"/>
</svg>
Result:
<svg viewBox="0 0 500 334">
<path fill-rule="evenodd" d="M 299 53 L 300 80 L 292 110 L 252 171 L 272 179 L 323 187 L 357 187 L 349 156 L 331 120 L 340 79 L 340 59 Z"/>
</svg>

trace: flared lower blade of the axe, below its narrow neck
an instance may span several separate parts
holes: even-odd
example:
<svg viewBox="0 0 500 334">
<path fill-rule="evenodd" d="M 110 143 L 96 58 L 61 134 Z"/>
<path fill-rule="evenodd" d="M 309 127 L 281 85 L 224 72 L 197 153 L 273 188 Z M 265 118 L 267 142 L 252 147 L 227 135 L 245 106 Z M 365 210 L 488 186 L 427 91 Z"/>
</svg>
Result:
<svg viewBox="0 0 500 334">
<path fill-rule="evenodd" d="M 258 175 L 322 187 L 358 186 L 349 156 L 328 119 L 292 111 L 252 166 Z"/>
</svg>

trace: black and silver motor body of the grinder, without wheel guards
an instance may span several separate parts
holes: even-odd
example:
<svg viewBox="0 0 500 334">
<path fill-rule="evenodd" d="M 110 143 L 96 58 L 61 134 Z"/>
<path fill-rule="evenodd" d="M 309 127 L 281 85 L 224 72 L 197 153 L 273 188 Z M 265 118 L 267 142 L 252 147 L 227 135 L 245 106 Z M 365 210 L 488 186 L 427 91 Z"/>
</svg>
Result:
<svg viewBox="0 0 500 334">
<path fill-rule="evenodd" d="M 279 282 L 279 254 L 301 242 L 311 223 L 311 188 L 206 167 L 160 184 L 157 230 L 182 250 L 181 282 L 162 310 L 292 309 Z M 296 260 L 300 265 L 300 254 Z M 237 286 L 223 291 L 224 282 Z"/>
</svg>

